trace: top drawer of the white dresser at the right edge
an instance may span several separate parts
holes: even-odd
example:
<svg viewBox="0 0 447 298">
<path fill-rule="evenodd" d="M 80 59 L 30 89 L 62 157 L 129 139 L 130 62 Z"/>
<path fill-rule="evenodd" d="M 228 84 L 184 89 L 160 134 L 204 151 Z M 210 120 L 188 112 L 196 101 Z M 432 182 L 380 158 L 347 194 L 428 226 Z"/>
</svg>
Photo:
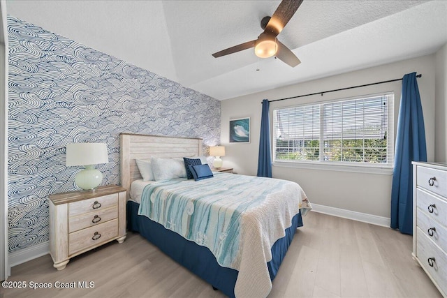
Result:
<svg viewBox="0 0 447 298">
<path fill-rule="evenodd" d="M 447 172 L 418 166 L 417 184 L 447 198 Z"/>
</svg>

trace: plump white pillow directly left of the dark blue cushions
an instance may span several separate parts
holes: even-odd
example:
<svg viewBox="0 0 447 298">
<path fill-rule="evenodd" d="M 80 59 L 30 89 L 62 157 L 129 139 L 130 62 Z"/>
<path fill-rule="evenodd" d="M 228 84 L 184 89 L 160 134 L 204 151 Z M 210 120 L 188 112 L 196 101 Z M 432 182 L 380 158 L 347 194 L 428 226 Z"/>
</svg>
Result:
<svg viewBox="0 0 447 298">
<path fill-rule="evenodd" d="M 156 181 L 186 178 L 183 158 L 151 158 L 152 172 Z"/>
</svg>

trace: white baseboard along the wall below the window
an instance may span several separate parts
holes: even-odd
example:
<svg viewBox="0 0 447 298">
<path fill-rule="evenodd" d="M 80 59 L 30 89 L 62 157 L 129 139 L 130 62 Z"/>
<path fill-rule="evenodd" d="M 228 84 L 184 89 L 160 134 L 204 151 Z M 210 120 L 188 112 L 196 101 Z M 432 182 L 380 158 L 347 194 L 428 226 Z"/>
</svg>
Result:
<svg viewBox="0 0 447 298">
<path fill-rule="evenodd" d="M 314 203 L 312 203 L 312 211 L 332 216 L 338 216 L 342 218 L 348 218 L 354 221 L 362 221 L 363 223 L 372 223 L 373 225 L 381 225 L 386 228 L 390 228 L 391 223 L 391 219 L 388 217 L 376 216 L 372 214 L 361 213 L 346 209 L 339 209 L 335 207 L 329 207 Z"/>
</svg>

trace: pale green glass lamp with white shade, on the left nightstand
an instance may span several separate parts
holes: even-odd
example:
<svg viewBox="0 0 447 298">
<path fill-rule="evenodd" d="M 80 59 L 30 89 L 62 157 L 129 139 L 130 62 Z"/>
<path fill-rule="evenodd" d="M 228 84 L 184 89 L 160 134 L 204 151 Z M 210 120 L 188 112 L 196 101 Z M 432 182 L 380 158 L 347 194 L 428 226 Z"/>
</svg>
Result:
<svg viewBox="0 0 447 298">
<path fill-rule="evenodd" d="M 67 144 L 66 166 L 83 165 L 84 170 L 78 172 L 75 184 L 84 190 L 94 189 L 103 181 L 103 174 L 96 170 L 98 163 L 108 163 L 107 145 L 105 143 Z"/>
</svg>

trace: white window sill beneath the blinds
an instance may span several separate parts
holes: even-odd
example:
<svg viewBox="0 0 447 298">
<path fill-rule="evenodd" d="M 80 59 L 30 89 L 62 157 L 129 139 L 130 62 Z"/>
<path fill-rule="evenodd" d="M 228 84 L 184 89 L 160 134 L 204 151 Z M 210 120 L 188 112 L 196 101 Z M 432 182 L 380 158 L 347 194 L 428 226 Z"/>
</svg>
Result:
<svg viewBox="0 0 447 298">
<path fill-rule="evenodd" d="M 301 169 L 325 170 L 337 172 L 354 172 L 365 174 L 393 175 L 393 167 L 380 167 L 376 165 L 346 165 L 344 163 L 312 163 L 312 162 L 284 162 L 274 161 L 274 167 L 298 167 Z"/>
</svg>

